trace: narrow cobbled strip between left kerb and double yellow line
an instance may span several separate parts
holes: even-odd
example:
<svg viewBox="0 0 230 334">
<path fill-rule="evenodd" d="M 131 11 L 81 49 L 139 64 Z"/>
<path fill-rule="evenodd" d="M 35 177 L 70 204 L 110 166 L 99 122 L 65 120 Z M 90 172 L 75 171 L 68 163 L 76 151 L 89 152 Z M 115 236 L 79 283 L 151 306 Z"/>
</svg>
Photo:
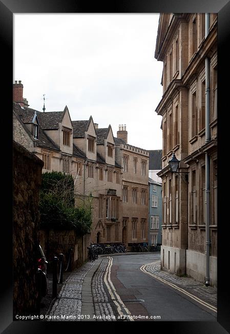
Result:
<svg viewBox="0 0 230 334">
<path fill-rule="evenodd" d="M 92 280 L 92 294 L 94 302 L 95 315 L 98 317 L 98 321 L 116 321 L 115 319 L 100 319 L 100 316 L 114 316 L 114 312 L 110 305 L 108 295 L 103 287 L 103 275 L 108 266 L 109 259 L 103 258 L 100 266 L 95 272 Z"/>
</svg>

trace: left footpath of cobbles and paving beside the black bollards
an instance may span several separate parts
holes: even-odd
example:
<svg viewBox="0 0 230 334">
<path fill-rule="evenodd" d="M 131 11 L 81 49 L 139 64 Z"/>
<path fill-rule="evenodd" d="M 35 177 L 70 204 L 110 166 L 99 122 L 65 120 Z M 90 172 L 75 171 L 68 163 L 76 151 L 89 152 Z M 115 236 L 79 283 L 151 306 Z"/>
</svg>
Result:
<svg viewBox="0 0 230 334">
<path fill-rule="evenodd" d="M 80 321 L 72 316 L 81 314 L 81 289 L 87 272 L 95 263 L 87 262 L 75 269 L 64 282 L 52 309 L 48 311 L 47 321 Z M 63 316 L 66 316 L 63 318 Z"/>
</svg>

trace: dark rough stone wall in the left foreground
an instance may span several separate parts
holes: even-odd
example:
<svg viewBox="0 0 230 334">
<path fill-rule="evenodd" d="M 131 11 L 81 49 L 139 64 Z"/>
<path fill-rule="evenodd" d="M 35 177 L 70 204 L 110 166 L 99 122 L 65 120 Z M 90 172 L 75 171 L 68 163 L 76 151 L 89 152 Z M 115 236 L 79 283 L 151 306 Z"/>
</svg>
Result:
<svg viewBox="0 0 230 334">
<path fill-rule="evenodd" d="M 13 141 L 13 316 L 34 314 L 38 240 L 38 190 L 43 161 Z"/>
</svg>

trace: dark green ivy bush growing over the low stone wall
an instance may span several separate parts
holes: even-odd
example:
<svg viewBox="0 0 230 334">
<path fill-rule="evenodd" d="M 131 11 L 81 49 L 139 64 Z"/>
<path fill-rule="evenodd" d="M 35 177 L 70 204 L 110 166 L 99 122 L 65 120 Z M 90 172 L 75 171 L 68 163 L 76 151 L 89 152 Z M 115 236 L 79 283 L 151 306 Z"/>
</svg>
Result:
<svg viewBox="0 0 230 334">
<path fill-rule="evenodd" d="M 74 206 L 74 181 L 61 172 L 42 175 L 39 196 L 41 229 L 75 229 L 84 235 L 92 224 L 91 209 Z"/>
</svg>

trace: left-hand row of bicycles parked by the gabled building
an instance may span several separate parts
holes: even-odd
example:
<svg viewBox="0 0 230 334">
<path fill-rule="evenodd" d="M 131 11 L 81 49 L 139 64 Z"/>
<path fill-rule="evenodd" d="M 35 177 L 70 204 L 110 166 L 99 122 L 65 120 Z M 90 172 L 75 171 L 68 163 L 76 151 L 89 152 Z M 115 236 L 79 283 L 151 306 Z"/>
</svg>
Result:
<svg viewBox="0 0 230 334">
<path fill-rule="evenodd" d="M 116 244 L 92 244 L 88 248 L 89 261 L 95 261 L 98 255 L 101 254 L 114 254 L 114 253 L 126 253 L 126 245 L 122 243 Z"/>
</svg>

